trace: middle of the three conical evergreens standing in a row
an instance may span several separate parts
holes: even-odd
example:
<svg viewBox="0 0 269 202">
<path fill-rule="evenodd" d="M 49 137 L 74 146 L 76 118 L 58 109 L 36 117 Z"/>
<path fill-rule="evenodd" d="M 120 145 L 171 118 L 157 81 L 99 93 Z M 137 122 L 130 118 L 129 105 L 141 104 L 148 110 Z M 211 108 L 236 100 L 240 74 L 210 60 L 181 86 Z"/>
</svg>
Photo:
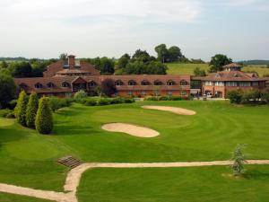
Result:
<svg viewBox="0 0 269 202">
<path fill-rule="evenodd" d="M 26 125 L 35 128 L 35 120 L 39 109 L 39 97 L 36 92 L 30 93 L 30 98 L 26 109 Z"/>
</svg>

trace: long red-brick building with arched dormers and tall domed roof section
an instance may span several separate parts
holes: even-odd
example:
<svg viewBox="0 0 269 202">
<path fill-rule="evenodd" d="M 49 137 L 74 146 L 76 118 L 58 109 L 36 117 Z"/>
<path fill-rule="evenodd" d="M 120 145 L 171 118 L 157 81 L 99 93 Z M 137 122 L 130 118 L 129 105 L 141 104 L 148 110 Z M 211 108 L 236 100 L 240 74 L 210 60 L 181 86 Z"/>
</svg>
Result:
<svg viewBox="0 0 269 202">
<path fill-rule="evenodd" d="M 152 95 L 182 96 L 190 94 L 190 75 L 100 75 L 91 64 L 69 56 L 48 66 L 43 77 L 15 78 L 18 91 L 37 92 L 39 95 L 71 97 L 84 90 L 94 92 L 106 80 L 115 82 L 115 96 L 145 97 Z"/>
</svg>

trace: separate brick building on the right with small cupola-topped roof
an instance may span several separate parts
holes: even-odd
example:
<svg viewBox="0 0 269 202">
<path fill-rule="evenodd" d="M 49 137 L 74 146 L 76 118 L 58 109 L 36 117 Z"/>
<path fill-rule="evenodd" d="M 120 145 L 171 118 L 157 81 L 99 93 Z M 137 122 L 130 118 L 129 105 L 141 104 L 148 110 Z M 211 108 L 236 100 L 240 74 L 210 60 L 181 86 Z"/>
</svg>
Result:
<svg viewBox="0 0 269 202">
<path fill-rule="evenodd" d="M 242 72 L 241 67 L 231 63 L 223 66 L 224 71 L 200 78 L 203 83 L 203 94 L 211 94 L 215 98 L 226 98 L 229 91 L 265 89 L 266 78 L 259 77 L 256 73 Z"/>
</svg>

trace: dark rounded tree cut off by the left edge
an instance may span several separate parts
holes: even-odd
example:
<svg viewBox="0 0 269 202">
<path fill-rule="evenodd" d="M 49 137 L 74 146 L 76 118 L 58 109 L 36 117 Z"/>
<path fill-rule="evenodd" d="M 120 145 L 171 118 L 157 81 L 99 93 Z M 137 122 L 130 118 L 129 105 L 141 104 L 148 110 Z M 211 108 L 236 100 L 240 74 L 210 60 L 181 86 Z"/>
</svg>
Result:
<svg viewBox="0 0 269 202">
<path fill-rule="evenodd" d="M 13 77 L 6 73 L 6 70 L 0 72 L 0 109 L 6 108 L 9 101 L 16 96 L 16 85 Z"/>
</svg>

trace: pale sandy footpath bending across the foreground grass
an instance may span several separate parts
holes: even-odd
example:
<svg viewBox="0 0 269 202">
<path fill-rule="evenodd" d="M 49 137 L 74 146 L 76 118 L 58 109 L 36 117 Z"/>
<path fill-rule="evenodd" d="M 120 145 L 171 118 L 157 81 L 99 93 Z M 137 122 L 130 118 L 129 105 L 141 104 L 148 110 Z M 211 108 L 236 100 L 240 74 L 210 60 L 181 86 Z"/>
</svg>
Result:
<svg viewBox="0 0 269 202">
<path fill-rule="evenodd" d="M 48 190 L 22 188 L 14 185 L 0 183 L 0 192 L 29 196 L 34 198 L 44 198 L 56 202 L 78 202 L 75 197 L 76 189 L 79 186 L 82 173 L 93 168 L 172 168 L 172 167 L 200 167 L 213 165 L 230 165 L 231 161 L 215 162 L 87 162 L 79 165 L 68 172 L 65 180 L 65 191 L 56 192 Z M 269 160 L 247 160 L 246 164 L 269 164 Z"/>
</svg>

